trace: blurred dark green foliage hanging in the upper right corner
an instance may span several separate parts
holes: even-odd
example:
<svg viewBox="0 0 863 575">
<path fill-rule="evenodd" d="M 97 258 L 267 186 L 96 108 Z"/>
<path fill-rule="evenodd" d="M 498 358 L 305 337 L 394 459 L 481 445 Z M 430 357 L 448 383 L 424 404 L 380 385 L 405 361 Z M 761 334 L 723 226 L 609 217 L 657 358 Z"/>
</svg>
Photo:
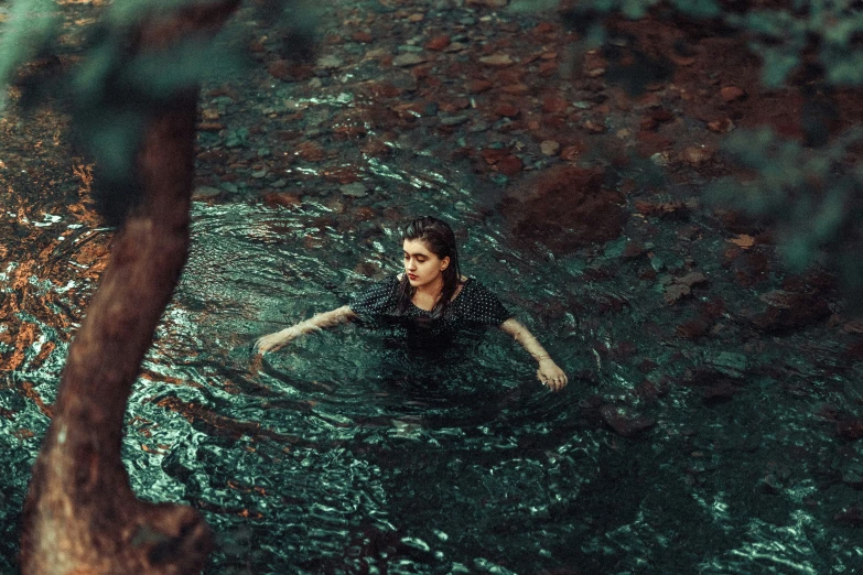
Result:
<svg viewBox="0 0 863 575">
<path fill-rule="evenodd" d="M 546 0 L 514 0 L 514 9 L 548 9 Z M 614 52 L 610 19 L 647 14 L 678 21 L 692 31 L 737 33 L 762 59 L 766 89 L 791 87 L 802 96 L 802 139 L 770 130 L 726 137 L 725 152 L 751 175 L 722 180 L 709 197 L 745 211 L 778 230 L 779 247 L 794 270 L 821 263 L 844 284 L 850 303 L 863 312 L 863 150 L 859 129 L 833 133 L 837 90 L 863 84 L 863 2 L 860 0 L 563 0 L 563 21 L 580 37 L 579 50 Z M 697 28 L 695 28 L 697 29 Z M 669 58 L 670 59 L 670 58 Z M 669 63 L 669 65 L 672 65 Z M 639 72 L 618 82 L 638 87 Z M 644 74 L 641 74 L 644 75 Z M 613 79 L 613 78 L 610 78 Z"/>
</svg>

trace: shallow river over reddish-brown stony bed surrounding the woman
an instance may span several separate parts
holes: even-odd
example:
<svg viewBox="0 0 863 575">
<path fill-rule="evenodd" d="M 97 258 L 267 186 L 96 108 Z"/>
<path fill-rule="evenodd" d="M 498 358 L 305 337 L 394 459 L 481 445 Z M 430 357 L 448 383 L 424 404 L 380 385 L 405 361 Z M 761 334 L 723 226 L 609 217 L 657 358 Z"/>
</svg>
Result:
<svg viewBox="0 0 863 575">
<path fill-rule="evenodd" d="M 69 29 L 96 4 L 67 6 Z M 226 42 L 249 66 L 202 94 L 202 239 L 130 408 L 133 485 L 212 514 L 228 533 L 212 573 L 863 568 L 863 323 L 834 278 L 788 273 L 769 227 L 703 193 L 745 176 L 721 151 L 729 133 L 768 124 L 809 138 L 799 90 L 764 89 L 745 42 L 709 26 L 614 22 L 605 50 L 583 50 L 558 13 L 505 4 L 333 2 L 311 50 L 253 6 L 240 11 Z M 831 128 L 859 123 L 853 95 L 835 98 Z M 110 245 L 89 205 L 91 163 L 64 126 L 55 111 L 14 109 L 0 124 L 10 569 L 26 471 Z M 563 394 L 513 391 L 495 397 L 494 416 L 418 423 L 352 411 L 367 397 L 332 390 L 353 368 L 319 382 L 309 373 L 326 355 L 314 346 L 308 366 L 251 365 L 248 344 L 279 321 L 276 304 L 240 299 L 261 245 L 294 260 L 277 258 L 278 278 L 249 293 L 336 303 L 391 271 L 381 246 L 417 209 L 461 227 L 472 271 L 551 339 L 572 376 Z M 235 241 L 250 256 L 223 246 Z M 345 245 L 356 251 L 333 254 Z M 327 276 L 333 261 L 344 269 Z M 287 400 L 271 377 L 311 399 Z M 266 398 L 260 413 L 237 408 L 252 398 Z M 314 421 L 328 432 L 271 421 L 270 404 L 324 413 Z M 176 414 L 224 445 L 164 438 Z M 244 463 L 256 453 L 266 462 Z M 354 502 L 344 523 L 283 527 L 328 512 L 290 491 L 303 473 Z"/>
</svg>

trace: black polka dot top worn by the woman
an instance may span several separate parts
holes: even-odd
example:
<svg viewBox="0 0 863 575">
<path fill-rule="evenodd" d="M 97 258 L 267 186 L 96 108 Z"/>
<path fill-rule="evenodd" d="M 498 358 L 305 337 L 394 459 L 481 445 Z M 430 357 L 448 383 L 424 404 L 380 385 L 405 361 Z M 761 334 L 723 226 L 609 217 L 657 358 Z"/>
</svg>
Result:
<svg viewBox="0 0 863 575">
<path fill-rule="evenodd" d="M 472 278 L 462 284 L 462 291 L 446 306 L 443 317 L 438 319 L 432 318 L 431 312 L 412 304 L 404 313 L 399 314 L 398 288 L 399 280 L 392 275 L 358 294 L 350 300 L 348 306 L 364 323 L 409 321 L 439 333 L 463 327 L 497 327 L 513 317 L 495 294 Z"/>
</svg>

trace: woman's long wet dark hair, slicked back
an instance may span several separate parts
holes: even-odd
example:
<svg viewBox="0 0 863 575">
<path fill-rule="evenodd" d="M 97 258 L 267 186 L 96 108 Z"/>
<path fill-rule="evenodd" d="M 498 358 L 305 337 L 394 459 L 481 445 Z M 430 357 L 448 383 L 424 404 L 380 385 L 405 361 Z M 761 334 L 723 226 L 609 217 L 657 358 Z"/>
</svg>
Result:
<svg viewBox="0 0 863 575">
<path fill-rule="evenodd" d="M 429 251 L 439 258 L 450 258 L 450 264 L 443 270 L 443 290 L 441 297 L 434 302 L 431 308 L 432 317 L 443 317 L 450 301 L 455 295 L 459 284 L 462 282 L 462 272 L 459 269 L 459 250 L 455 247 L 455 235 L 449 224 L 431 216 L 417 218 L 408 223 L 401 231 L 403 240 L 422 240 Z M 408 281 L 408 274 L 399 281 L 397 310 L 404 313 L 411 305 L 417 289 Z"/>
</svg>

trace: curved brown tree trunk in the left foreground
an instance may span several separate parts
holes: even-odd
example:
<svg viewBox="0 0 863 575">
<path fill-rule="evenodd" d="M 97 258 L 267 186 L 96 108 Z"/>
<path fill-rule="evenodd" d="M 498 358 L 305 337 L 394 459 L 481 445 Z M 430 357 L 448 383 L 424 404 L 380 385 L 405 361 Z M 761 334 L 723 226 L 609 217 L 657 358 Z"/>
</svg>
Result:
<svg viewBox="0 0 863 575">
<path fill-rule="evenodd" d="M 214 31 L 239 0 L 151 18 L 139 50 Z M 144 200 L 115 238 L 75 337 L 24 505 L 24 575 L 199 573 L 212 547 L 203 518 L 139 501 L 120 460 L 126 404 L 188 252 L 197 89 L 173 98 L 143 134 Z"/>
</svg>

